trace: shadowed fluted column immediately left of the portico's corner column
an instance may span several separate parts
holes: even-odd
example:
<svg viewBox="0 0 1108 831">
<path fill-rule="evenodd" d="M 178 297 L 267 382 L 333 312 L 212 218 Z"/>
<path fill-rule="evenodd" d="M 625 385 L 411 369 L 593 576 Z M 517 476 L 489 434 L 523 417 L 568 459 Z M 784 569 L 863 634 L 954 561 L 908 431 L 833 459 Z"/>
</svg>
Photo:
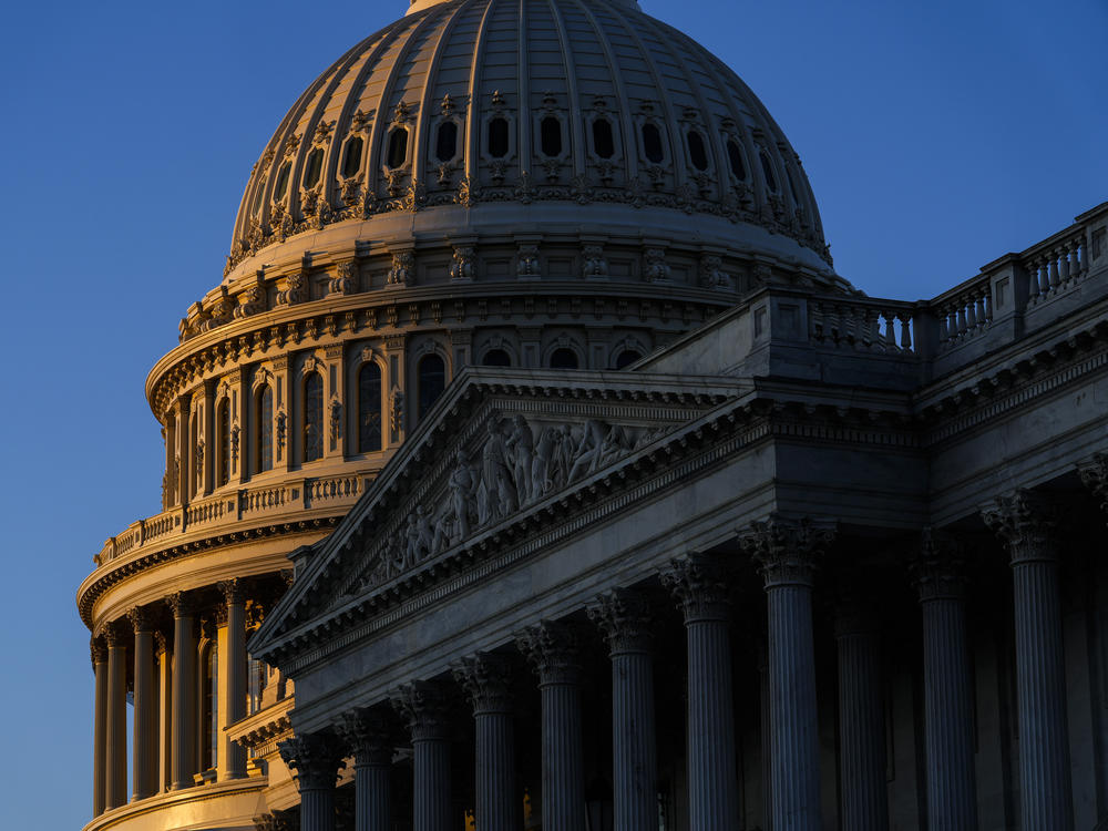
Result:
<svg viewBox="0 0 1108 831">
<path fill-rule="evenodd" d="M 661 583 L 685 613 L 688 640 L 689 828 L 731 831 L 739 827 L 739 780 L 729 589 L 719 563 L 699 554 L 674 560 Z"/>
</svg>

